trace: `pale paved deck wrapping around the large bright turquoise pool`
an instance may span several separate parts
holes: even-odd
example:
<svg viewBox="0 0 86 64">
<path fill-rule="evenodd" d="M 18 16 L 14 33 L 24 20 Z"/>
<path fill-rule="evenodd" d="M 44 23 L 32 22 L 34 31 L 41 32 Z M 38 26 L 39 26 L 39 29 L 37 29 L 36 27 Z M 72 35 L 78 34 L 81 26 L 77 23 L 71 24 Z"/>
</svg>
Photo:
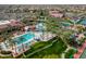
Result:
<svg viewBox="0 0 86 64">
<path fill-rule="evenodd" d="M 51 33 L 44 33 L 44 34 L 42 34 L 42 33 L 40 33 L 40 31 L 24 31 L 24 33 L 22 33 L 22 34 L 14 34 L 14 37 L 12 37 L 12 39 L 19 38 L 19 37 L 25 35 L 25 34 L 34 34 L 35 37 L 39 37 L 41 41 L 47 41 L 47 40 L 49 40 L 49 39 L 56 37 L 56 35 L 53 35 L 53 34 L 51 34 Z M 30 44 L 34 44 L 35 42 L 37 42 L 37 40 L 35 40 L 35 37 L 32 38 L 32 39 L 29 39 L 29 40 L 27 40 L 27 41 L 25 41 L 24 43 L 27 43 L 28 41 L 32 41 L 32 40 L 33 40 Z M 22 43 L 22 44 L 23 44 L 23 43 Z M 28 49 L 23 49 L 22 52 L 17 52 L 17 51 L 16 51 L 17 48 L 21 47 L 22 44 L 14 46 L 14 47 L 12 47 L 12 48 L 9 49 L 9 50 L 12 52 L 12 55 L 13 55 L 14 57 L 19 56 L 20 54 L 22 54 L 22 53 L 24 53 L 25 51 L 27 51 L 27 50 L 30 49 L 30 48 L 28 48 Z"/>
</svg>

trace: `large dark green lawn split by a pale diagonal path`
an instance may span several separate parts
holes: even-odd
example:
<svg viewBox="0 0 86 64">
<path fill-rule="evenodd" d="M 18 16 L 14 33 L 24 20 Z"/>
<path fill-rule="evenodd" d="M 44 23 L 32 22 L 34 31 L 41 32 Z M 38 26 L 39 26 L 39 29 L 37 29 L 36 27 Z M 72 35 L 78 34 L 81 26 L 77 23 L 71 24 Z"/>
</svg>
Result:
<svg viewBox="0 0 86 64">
<path fill-rule="evenodd" d="M 51 43 L 50 41 L 42 43 L 36 43 L 33 49 L 30 49 L 30 51 L 27 51 L 27 53 L 35 51 L 38 48 L 41 48 L 42 46 L 47 46 Z M 66 46 L 62 42 L 62 41 L 56 41 L 51 47 L 35 53 L 34 55 L 30 55 L 30 59 L 60 59 L 61 57 L 61 53 L 64 52 L 64 50 L 66 49 Z M 25 53 L 25 54 L 27 54 Z M 29 59 L 27 57 L 27 59 Z"/>
</svg>

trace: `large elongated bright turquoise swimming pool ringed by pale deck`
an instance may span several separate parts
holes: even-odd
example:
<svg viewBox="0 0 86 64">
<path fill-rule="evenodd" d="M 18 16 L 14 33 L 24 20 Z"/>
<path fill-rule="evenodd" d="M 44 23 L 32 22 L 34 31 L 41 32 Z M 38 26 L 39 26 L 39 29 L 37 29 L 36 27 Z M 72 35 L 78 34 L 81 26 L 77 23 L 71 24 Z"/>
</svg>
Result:
<svg viewBox="0 0 86 64">
<path fill-rule="evenodd" d="M 15 44 L 21 44 L 21 43 L 28 41 L 29 39 L 34 37 L 35 35 L 33 33 L 27 33 L 25 35 L 14 38 L 13 41 L 15 42 Z"/>
</svg>

